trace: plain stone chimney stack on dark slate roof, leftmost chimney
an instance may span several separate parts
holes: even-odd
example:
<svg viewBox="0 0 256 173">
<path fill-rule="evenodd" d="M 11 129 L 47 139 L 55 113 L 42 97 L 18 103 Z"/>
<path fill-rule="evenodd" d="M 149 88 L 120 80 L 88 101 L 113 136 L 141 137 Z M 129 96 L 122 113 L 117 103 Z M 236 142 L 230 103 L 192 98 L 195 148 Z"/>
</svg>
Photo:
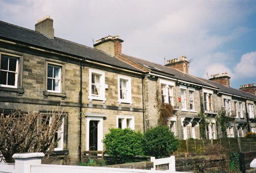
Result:
<svg viewBox="0 0 256 173">
<path fill-rule="evenodd" d="M 53 20 L 49 15 L 45 16 L 43 19 L 38 20 L 38 23 L 35 24 L 35 31 L 41 32 L 50 38 L 54 38 Z"/>
</svg>

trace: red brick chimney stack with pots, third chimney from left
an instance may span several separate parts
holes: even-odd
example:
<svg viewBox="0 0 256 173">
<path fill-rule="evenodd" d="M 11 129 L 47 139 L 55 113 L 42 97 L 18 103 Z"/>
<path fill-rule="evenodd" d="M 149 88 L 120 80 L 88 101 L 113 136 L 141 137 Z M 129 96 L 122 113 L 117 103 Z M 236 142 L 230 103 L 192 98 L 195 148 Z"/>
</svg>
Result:
<svg viewBox="0 0 256 173">
<path fill-rule="evenodd" d="M 180 60 L 178 58 L 174 58 L 172 60 L 167 60 L 167 64 L 165 66 L 178 69 L 186 74 L 188 74 L 188 64 L 186 56 L 180 56 Z"/>
</svg>

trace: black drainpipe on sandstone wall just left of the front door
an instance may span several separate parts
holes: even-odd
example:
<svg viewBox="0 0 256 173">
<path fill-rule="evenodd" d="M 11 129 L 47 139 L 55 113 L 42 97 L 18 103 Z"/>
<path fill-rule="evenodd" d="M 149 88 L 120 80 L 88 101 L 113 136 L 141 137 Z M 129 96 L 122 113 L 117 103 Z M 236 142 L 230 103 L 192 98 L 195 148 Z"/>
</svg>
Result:
<svg viewBox="0 0 256 173">
<path fill-rule="evenodd" d="M 81 162 L 81 138 L 82 138 L 82 69 L 83 69 L 83 63 L 84 63 L 85 58 L 80 62 L 80 99 L 79 99 L 79 104 L 80 104 L 80 133 L 79 133 L 79 162 Z"/>
</svg>

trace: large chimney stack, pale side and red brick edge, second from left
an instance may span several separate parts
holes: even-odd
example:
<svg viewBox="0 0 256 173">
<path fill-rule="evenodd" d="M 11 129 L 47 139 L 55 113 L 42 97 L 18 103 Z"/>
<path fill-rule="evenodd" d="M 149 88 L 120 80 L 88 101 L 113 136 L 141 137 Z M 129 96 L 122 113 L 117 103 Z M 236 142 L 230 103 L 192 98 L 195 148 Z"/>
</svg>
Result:
<svg viewBox="0 0 256 173">
<path fill-rule="evenodd" d="M 119 36 L 107 36 L 100 40 L 96 40 L 93 45 L 95 49 L 102 50 L 111 56 L 118 56 L 122 54 L 122 42 Z"/>
</svg>

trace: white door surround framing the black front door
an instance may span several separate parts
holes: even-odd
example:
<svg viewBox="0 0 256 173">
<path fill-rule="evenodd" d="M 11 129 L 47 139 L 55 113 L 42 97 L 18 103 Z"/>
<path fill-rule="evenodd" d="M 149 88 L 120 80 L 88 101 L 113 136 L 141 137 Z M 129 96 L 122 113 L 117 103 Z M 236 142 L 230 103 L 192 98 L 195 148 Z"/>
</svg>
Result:
<svg viewBox="0 0 256 173">
<path fill-rule="evenodd" d="M 86 151 L 89 151 L 89 135 L 90 135 L 90 121 L 99 121 L 98 122 L 98 142 L 97 147 L 98 151 L 103 149 L 103 118 L 106 117 L 106 114 L 101 113 L 84 113 L 86 117 Z"/>
</svg>

